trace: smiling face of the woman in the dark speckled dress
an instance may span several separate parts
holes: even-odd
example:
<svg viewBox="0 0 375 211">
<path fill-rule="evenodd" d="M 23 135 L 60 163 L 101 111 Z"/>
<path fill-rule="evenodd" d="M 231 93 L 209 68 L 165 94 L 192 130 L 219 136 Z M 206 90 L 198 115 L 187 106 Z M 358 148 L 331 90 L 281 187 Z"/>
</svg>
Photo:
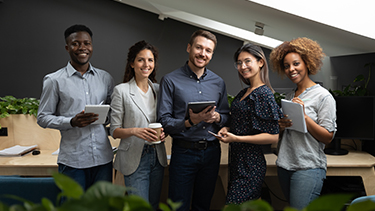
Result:
<svg viewBox="0 0 375 211">
<path fill-rule="evenodd" d="M 260 78 L 260 70 L 264 65 L 264 61 L 260 59 L 257 61 L 252 54 L 242 51 L 237 58 L 237 69 L 244 79 L 252 80 L 255 77 Z"/>
</svg>

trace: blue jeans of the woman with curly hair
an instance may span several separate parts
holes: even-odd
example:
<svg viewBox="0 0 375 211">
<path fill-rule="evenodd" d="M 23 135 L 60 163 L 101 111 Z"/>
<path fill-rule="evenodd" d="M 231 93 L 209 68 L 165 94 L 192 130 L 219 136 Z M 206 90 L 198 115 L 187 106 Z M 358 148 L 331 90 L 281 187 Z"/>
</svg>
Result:
<svg viewBox="0 0 375 211">
<path fill-rule="evenodd" d="M 290 206 L 298 210 L 302 210 L 319 197 L 326 178 L 324 169 L 288 171 L 278 167 L 277 174 Z"/>
</svg>

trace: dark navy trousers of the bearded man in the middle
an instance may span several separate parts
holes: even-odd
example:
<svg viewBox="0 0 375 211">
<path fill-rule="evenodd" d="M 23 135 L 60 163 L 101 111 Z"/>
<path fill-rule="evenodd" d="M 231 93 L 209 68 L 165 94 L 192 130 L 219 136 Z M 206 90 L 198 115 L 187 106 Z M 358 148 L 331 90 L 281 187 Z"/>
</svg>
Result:
<svg viewBox="0 0 375 211">
<path fill-rule="evenodd" d="M 221 157 L 220 145 L 205 150 L 172 146 L 169 166 L 169 198 L 183 202 L 178 211 L 209 210 Z"/>
</svg>

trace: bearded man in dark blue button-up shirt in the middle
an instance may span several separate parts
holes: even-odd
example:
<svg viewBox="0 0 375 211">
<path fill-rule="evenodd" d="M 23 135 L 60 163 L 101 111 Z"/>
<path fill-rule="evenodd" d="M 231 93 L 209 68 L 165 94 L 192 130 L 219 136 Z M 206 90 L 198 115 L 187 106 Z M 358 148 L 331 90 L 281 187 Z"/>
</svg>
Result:
<svg viewBox="0 0 375 211">
<path fill-rule="evenodd" d="M 198 30 L 187 46 L 188 62 L 160 82 L 158 121 L 173 138 L 169 167 L 169 198 L 183 202 L 179 210 L 209 210 L 219 171 L 221 148 L 215 136 L 229 117 L 223 79 L 206 68 L 216 37 Z M 189 102 L 215 101 L 200 113 L 189 112 Z"/>
</svg>

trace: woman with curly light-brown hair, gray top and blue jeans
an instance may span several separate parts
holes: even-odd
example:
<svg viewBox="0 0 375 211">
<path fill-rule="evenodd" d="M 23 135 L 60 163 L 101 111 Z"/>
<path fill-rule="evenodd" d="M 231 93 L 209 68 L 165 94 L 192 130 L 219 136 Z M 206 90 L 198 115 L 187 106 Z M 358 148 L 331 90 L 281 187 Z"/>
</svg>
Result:
<svg viewBox="0 0 375 211">
<path fill-rule="evenodd" d="M 308 38 L 284 42 L 270 55 L 274 70 L 297 85 L 286 99 L 301 104 L 304 109 L 307 133 L 288 130 L 293 123 L 287 116 L 279 120 L 276 161 L 284 195 L 290 206 L 299 210 L 320 195 L 327 170 L 323 150 L 336 131 L 334 98 L 309 77 L 320 70 L 324 56 L 319 44 Z"/>
</svg>

